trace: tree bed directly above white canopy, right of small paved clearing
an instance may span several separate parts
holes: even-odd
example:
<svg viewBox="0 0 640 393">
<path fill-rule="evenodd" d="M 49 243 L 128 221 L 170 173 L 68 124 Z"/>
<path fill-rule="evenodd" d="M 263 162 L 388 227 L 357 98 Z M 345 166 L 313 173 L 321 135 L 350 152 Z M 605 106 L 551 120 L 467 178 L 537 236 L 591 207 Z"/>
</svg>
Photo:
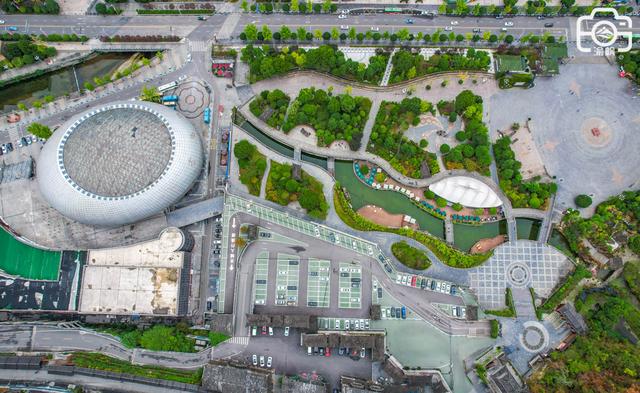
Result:
<svg viewBox="0 0 640 393">
<path fill-rule="evenodd" d="M 489 130 L 482 121 L 482 97 L 471 90 L 463 90 L 454 101 L 440 101 L 437 107 L 438 112 L 447 116 L 450 122 L 455 122 L 458 116 L 464 122 L 464 130 L 456 133 L 460 144 L 454 148 L 449 148 L 449 145 L 440 148 L 447 169 L 466 169 L 489 176 L 491 145 Z"/>
</svg>

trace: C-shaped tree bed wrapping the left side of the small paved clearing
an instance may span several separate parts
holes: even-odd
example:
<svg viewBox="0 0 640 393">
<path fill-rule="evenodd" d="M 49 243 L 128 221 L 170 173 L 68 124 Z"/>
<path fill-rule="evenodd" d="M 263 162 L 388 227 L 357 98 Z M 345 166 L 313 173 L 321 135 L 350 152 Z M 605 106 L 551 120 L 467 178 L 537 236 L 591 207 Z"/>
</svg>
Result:
<svg viewBox="0 0 640 393">
<path fill-rule="evenodd" d="M 435 113 L 433 105 L 420 98 L 405 98 L 401 102 L 383 101 L 369 138 L 367 150 L 391 164 L 405 176 L 420 179 L 440 171 L 436 155 L 429 153 L 427 141 L 420 144 L 404 136 L 410 126 L 420 123 L 423 113 Z M 426 165 L 426 167 L 423 167 Z"/>
</svg>

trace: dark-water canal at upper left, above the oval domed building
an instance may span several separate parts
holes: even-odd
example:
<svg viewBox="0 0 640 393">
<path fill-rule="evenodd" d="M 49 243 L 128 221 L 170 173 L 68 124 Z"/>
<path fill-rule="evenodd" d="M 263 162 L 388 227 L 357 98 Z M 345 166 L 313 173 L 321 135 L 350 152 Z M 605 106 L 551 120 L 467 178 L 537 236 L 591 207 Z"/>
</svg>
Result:
<svg viewBox="0 0 640 393">
<path fill-rule="evenodd" d="M 93 78 L 96 76 L 102 77 L 115 72 L 133 55 L 134 53 L 125 52 L 100 53 L 74 66 L 5 86 L 0 94 L 0 112 L 16 109 L 19 102 L 31 106 L 35 100 L 42 100 L 48 95 L 60 97 L 77 92 L 85 82 L 93 83 Z M 143 55 L 151 57 L 153 53 L 143 53 Z"/>
</svg>

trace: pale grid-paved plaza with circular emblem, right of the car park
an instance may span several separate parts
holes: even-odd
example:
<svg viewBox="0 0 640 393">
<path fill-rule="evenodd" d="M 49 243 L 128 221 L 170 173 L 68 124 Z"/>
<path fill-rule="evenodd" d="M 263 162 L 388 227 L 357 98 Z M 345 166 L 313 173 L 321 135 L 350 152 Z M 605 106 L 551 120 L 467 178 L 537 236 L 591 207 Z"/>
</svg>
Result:
<svg viewBox="0 0 640 393">
<path fill-rule="evenodd" d="M 555 248 L 530 240 L 505 243 L 482 266 L 469 273 L 470 286 L 480 305 L 505 307 L 505 289 L 529 288 L 547 297 L 573 264 Z"/>
</svg>

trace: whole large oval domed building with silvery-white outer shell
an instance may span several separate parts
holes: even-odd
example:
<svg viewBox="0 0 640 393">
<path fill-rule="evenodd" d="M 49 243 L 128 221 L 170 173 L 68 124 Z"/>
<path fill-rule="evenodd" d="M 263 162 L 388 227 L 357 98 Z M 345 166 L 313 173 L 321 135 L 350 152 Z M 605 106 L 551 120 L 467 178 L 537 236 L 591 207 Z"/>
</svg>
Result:
<svg viewBox="0 0 640 393">
<path fill-rule="evenodd" d="M 44 199 L 64 216 L 116 227 L 178 202 L 204 163 L 193 125 L 163 105 L 118 101 L 72 117 L 37 161 Z"/>
</svg>

